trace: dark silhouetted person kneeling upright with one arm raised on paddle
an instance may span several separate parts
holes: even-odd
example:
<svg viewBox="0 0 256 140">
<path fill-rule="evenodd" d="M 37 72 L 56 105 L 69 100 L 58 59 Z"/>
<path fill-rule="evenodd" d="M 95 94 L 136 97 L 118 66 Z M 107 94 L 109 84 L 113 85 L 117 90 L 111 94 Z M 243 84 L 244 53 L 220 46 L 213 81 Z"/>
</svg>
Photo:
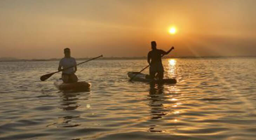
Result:
<svg viewBox="0 0 256 140">
<path fill-rule="evenodd" d="M 169 52 L 173 50 L 174 47 L 171 47 L 171 49 L 166 52 L 160 49 L 156 49 L 156 42 L 151 41 L 151 49 L 152 50 L 148 52 L 148 64 L 150 65 L 149 67 L 150 78 L 154 79 L 157 73 L 157 77 L 159 78 L 159 80 L 162 80 L 164 69 L 163 69 L 161 57 L 163 55 L 169 54 Z"/>
</svg>

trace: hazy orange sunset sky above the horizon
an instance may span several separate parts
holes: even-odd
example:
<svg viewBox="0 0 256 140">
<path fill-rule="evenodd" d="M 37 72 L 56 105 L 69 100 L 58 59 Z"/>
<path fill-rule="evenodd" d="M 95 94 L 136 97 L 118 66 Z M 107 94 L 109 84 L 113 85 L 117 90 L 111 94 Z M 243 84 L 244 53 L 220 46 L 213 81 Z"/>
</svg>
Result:
<svg viewBox="0 0 256 140">
<path fill-rule="evenodd" d="M 0 0 L 0 57 L 256 55 L 255 0 Z M 176 27 L 176 34 L 169 34 Z"/>
</svg>

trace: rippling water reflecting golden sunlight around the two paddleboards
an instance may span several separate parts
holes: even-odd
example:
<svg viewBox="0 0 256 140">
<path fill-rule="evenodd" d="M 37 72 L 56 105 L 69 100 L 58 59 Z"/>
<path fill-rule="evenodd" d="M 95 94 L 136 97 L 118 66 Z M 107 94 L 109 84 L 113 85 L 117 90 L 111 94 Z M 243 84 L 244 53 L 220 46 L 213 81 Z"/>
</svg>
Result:
<svg viewBox="0 0 256 140">
<path fill-rule="evenodd" d="M 128 82 L 146 60 L 78 67 L 88 92 L 39 77 L 58 62 L 0 62 L 1 140 L 255 140 L 256 58 L 164 59 L 177 84 Z M 144 73 L 148 70 L 144 71 Z"/>
</svg>

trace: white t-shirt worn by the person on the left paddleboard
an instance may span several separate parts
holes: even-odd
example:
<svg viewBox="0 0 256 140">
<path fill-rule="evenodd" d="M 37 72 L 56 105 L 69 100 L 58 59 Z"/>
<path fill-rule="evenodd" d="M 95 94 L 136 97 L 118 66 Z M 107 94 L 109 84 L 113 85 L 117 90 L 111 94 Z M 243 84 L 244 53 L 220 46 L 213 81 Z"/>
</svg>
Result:
<svg viewBox="0 0 256 140">
<path fill-rule="evenodd" d="M 75 58 L 73 57 L 64 57 L 60 60 L 59 66 L 62 66 L 63 69 L 68 68 L 69 66 L 74 66 L 76 65 Z M 62 73 L 66 74 L 72 74 L 74 73 L 75 69 L 74 67 L 69 68 L 67 70 L 62 71 Z"/>
</svg>

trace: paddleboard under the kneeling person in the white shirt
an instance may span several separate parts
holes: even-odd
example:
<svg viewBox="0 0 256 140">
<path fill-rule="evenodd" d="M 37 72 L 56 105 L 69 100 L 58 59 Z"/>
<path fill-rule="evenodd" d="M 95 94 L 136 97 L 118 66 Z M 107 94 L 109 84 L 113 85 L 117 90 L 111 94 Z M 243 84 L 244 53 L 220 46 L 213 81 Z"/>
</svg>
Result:
<svg viewBox="0 0 256 140">
<path fill-rule="evenodd" d="M 75 90 L 75 91 L 86 91 L 90 89 L 91 84 L 85 81 L 75 82 L 75 83 L 63 83 L 63 82 L 54 82 L 54 85 L 57 89 L 66 91 L 66 90 Z"/>
</svg>

